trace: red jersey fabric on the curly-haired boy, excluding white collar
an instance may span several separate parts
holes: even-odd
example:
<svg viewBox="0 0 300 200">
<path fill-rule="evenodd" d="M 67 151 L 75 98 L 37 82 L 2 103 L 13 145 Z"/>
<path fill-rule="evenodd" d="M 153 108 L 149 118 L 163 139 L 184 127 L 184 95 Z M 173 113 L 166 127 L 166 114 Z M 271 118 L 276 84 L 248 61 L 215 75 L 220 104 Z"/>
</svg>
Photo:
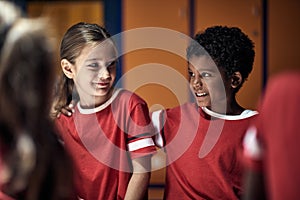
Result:
<svg viewBox="0 0 300 200">
<path fill-rule="evenodd" d="M 166 114 L 165 199 L 239 199 L 242 138 L 254 117 L 211 119 L 190 103 Z"/>
</svg>

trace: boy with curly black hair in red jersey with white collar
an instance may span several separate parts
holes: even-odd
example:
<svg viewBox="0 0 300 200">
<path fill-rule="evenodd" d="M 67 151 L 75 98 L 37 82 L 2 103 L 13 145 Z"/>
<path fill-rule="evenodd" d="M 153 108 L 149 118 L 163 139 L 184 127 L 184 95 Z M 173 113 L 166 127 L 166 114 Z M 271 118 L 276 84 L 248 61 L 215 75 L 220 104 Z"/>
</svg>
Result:
<svg viewBox="0 0 300 200">
<path fill-rule="evenodd" d="M 189 82 L 196 103 L 152 114 L 157 143 L 167 154 L 164 199 L 239 199 L 239 151 L 257 114 L 236 93 L 252 70 L 253 42 L 239 28 L 215 26 L 187 48 Z"/>
</svg>

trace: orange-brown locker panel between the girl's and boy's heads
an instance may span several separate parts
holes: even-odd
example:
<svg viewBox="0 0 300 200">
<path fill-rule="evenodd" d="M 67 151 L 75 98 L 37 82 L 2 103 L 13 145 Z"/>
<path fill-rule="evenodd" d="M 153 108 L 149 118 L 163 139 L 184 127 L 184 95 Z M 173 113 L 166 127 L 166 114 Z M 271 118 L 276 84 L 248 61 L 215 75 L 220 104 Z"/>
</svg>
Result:
<svg viewBox="0 0 300 200">
<path fill-rule="evenodd" d="M 165 72 L 172 70 L 176 76 L 186 77 L 186 60 L 185 57 L 180 56 L 182 53 L 185 56 L 183 45 L 186 44 L 183 41 L 180 43 L 180 38 L 176 38 L 176 34 L 177 32 L 178 35 L 188 34 L 187 10 L 188 1 L 185 0 L 124 1 L 123 28 L 125 31 L 141 27 L 156 27 L 153 28 L 153 32 L 152 29 L 147 29 L 141 34 L 128 35 L 124 42 L 124 48 L 129 51 L 124 58 L 123 72 L 128 74 L 128 77 L 125 77 L 124 87 L 136 88 L 135 92 L 147 101 L 151 110 L 174 107 L 179 105 L 180 101 L 185 102 L 189 98 L 187 85 L 184 85 L 185 81 L 178 84 L 179 80 L 175 76 Z M 164 29 L 157 30 L 157 27 Z M 142 42 L 148 40 L 149 43 L 140 45 L 140 49 L 132 51 L 132 45 L 138 43 L 137 40 Z M 157 42 L 157 40 L 161 41 Z M 175 52 L 172 52 L 173 50 Z M 150 73 L 146 72 L 147 66 L 143 66 L 147 63 L 151 63 L 148 66 Z M 131 76 L 132 73 L 129 71 L 138 68 L 145 73 L 140 73 L 138 77 Z M 160 68 L 162 68 L 161 71 Z M 159 75 L 162 77 L 159 78 Z M 136 79 L 152 79 L 153 83 L 138 84 Z M 171 88 L 176 83 L 177 86 L 174 87 L 179 88 L 178 91 Z M 160 106 L 157 107 L 157 104 Z"/>
</svg>

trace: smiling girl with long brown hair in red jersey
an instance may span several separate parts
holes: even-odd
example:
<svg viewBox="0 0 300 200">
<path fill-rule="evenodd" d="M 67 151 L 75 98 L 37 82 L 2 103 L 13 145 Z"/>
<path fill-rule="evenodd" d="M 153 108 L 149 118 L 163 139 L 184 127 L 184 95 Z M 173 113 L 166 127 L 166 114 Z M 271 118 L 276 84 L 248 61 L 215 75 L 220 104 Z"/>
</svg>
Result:
<svg viewBox="0 0 300 200">
<path fill-rule="evenodd" d="M 154 128 L 140 97 L 114 89 L 117 52 L 109 33 L 96 24 L 75 24 L 63 36 L 60 57 L 57 113 L 73 94 L 78 100 L 71 117 L 56 120 L 75 162 L 78 197 L 143 199 Z"/>
</svg>

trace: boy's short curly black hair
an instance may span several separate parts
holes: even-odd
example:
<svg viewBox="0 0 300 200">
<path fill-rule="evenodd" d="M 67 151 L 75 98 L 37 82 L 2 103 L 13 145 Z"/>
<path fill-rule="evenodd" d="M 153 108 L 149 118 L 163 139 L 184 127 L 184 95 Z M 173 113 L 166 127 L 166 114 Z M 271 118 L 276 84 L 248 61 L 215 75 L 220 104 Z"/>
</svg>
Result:
<svg viewBox="0 0 300 200">
<path fill-rule="evenodd" d="M 252 71 L 254 43 L 237 27 L 213 26 L 199 32 L 187 48 L 187 59 L 210 55 L 218 68 L 224 69 L 228 78 L 240 72 L 243 82 Z M 200 44 L 200 45 L 199 45 Z M 205 51 L 203 51 L 203 48 Z"/>
</svg>

